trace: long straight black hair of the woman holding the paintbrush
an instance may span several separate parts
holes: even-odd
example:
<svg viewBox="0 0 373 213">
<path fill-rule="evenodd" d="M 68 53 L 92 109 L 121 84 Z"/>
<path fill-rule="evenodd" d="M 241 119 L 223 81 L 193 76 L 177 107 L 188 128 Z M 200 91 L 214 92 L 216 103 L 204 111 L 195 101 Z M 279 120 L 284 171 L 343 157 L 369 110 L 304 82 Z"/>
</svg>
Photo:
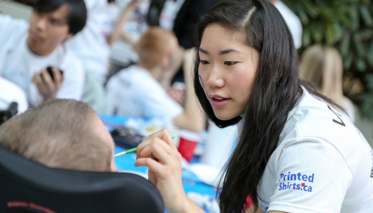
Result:
<svg viewBox="0 0 373 213">
<path fill-rule="evenodd" d="M 197 48 L 201 45 L 204 29 L 211 24 L 245 33 L 247 45 L 260 53 L 241 136 L 220 180 L 223 182 L 219 197 L 221 212 L 241 213 L 248 195 L 258 207 L 257 186 L 277 147 L 288 113 L 300 100 L 303 90 L 291 32 L 269 1 L 220 1 L 196 25 Z M 204 111 L 222 128 L 239 122 L 240 116 L 231 120 L 216 118 L 198 79 L 199 62 L 197 54 L 194 89 Z"/>
</svg>

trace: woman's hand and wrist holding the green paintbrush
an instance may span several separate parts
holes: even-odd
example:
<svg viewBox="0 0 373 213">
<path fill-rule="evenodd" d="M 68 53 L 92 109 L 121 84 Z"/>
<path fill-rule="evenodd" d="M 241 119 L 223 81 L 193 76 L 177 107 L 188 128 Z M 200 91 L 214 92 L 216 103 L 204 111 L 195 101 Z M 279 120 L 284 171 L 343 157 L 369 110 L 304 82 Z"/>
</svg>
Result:
<svg viewBox="0 0 373 213">
<path fill-rule="evenodd" d="M 168 212 L 183 212 L 189 198 L 181 181 L 181 154 L 165 129 L 149 135 L 138 145 L 135 166 L 149 168 L 148 179 L 162 194 Z"/>
</svg>

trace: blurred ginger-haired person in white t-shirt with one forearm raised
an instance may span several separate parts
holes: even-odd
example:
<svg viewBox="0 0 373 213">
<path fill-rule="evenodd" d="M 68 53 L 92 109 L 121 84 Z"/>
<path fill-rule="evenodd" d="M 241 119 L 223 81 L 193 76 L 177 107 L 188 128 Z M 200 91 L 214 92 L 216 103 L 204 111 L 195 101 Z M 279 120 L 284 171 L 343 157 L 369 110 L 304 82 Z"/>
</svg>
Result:
<svg viewBox="0 0 373 213">
<path fill-rule="evenodd" d="M 194 97 L 190 72 L 186 76 L 189 82 L 186 82 L 185 109 L 162 86 L 165 79 L 170 83 L 173 77 L 169 69 L 179 51 L 175 35 L 152 27 L 141 36 L 136 48 L 140 57 L 138 65 L 121 70 L 107 82 L 106 114 L 168 119 L 181 128 L 202 131 L 204 118 Z M 186 69 L 192 63 L 191 54 L 192 51 L 185 54 Z"/>
</svg>

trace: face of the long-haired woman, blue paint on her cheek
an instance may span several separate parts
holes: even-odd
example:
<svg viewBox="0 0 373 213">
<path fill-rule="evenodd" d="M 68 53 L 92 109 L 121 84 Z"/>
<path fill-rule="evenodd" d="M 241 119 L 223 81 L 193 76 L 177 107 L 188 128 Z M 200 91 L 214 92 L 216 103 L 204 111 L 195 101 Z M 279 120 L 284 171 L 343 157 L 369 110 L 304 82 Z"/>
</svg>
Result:
<svg viewBox="0 0 373 213">
<path fill-rule="evenodd" d="M 211 24 L 203 32 L 198 77 L 215 116 L 229 120 L 244 113 L 251 97 L 259 53 L 244 33 Z"/>
</svg>

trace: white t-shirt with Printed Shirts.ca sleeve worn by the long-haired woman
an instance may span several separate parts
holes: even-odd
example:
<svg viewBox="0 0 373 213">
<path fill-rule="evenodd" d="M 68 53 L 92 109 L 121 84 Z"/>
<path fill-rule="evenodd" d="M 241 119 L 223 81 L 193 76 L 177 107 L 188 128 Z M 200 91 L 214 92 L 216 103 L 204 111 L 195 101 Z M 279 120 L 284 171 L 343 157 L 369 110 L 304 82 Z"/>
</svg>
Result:
<svg viewBox="0 0 373 213">
<path fill-rule="evenodd" d="M 265 212 L 372 213 L 372 148 L 349 119 L 303 91 L 258 185 L 260 206 Z"/>
</svg>

